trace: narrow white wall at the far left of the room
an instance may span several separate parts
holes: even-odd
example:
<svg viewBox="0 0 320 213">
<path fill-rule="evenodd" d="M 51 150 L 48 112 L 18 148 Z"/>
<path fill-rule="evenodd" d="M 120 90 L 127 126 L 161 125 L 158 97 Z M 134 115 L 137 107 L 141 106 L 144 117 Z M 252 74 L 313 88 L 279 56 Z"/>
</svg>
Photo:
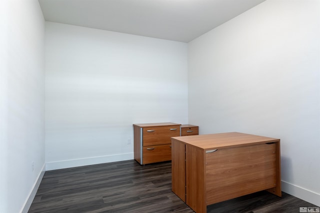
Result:
<svg viewBox="0 0 320 213">
<path fill-rule="evenodd" d="M 0 1 L 0 212 L 26 212 L 44 169 L 44 18 Z M 33 162 L 33 166 L 32 166 Z"/>
</svg>

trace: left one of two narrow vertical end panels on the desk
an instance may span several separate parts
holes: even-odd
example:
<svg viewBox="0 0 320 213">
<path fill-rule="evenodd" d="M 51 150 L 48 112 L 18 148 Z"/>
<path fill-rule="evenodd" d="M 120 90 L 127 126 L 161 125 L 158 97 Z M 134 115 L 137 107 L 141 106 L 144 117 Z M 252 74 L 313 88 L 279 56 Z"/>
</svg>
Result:
<svg viewBox="0 0 320 213">
<path fill-rule="evenodd" d="M 171 142 L 172 192 L 185 203 L 185 145 Z"/>
</svg>

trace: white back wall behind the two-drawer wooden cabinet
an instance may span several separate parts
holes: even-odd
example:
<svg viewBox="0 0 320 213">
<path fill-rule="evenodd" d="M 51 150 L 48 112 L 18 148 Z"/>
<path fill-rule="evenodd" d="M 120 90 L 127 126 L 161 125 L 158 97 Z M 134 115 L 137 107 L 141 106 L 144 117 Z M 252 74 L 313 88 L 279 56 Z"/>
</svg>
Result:
<svg viewBox="0 0 320 213">
<path fill-rule="evenodd" d="M 186 43 L 54 22 L 45 35 L 47 170 L 133 159 L 133 123 L 187 122 Z"/>
</svg>

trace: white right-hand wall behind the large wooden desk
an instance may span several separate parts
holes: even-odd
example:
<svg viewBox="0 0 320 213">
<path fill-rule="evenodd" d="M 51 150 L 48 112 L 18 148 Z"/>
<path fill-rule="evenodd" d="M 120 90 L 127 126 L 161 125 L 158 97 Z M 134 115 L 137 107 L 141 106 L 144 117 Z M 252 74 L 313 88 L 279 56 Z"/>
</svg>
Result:
<svg viewBox="0 0 320 213">
<path fill-rule="evenodd" d="M 280 138 L 282 190 L 317 206 L 319 8 L 267 0 L 188 44 L 189 123 Z"/>
</svg>

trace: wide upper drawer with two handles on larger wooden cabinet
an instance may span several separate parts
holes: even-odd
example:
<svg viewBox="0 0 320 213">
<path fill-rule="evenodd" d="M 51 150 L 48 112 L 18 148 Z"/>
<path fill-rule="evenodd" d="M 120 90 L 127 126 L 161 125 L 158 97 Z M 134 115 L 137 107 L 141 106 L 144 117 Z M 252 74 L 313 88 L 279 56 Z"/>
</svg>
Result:
<svg viewBox="0 0 320 213">
<path fill-rule="evenodd" d="M 164 127 L 145 127 L 142 130 L 143 147 L 171 144 L 171 137 L 180 136 L 180 125 Z"/>
</svg>

